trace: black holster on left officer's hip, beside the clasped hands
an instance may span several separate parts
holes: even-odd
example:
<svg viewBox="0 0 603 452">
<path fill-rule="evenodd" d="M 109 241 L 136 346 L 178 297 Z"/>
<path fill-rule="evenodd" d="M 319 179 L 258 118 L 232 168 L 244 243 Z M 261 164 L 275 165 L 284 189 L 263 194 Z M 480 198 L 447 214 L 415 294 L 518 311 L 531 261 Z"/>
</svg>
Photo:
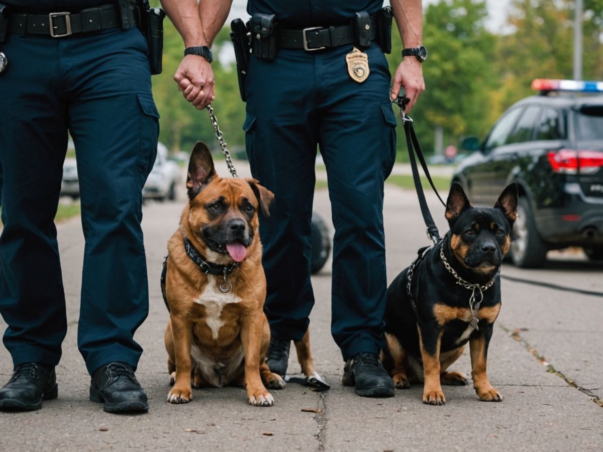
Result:
<svg viewBox="0 0 603 452">
<path fill-rule="evenodd" d="M 165 11 L 151 8 L 148 0 L 137 2 L 134 16 L 140 32 L 147 39 L 148 57 L 151 75 L 161 74 L 163 70 L 163 18 Z"/>
</svg>

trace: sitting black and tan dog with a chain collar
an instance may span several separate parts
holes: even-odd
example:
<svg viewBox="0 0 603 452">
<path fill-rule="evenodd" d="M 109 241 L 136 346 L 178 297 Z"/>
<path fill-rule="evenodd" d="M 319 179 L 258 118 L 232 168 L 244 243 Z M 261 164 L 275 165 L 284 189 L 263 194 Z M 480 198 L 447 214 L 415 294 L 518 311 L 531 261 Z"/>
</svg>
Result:
<svg viewBox="0 0 603 452">
<path fill-rule="evenodd" d="M 463 373 L 446 369 L 469 341 L 479 399 L 502 400 L 488 381 L 486 358 L 517 202 L 516 184 L 491 209 L 472 207 L 461 186 L 452 185 L 446 202 L 450 231 L 437 245 L 420 250 L 388 288 L 382 360 L 396 388 L 423 381 L 423 403 L 446 403 L 441 385 L 468 383 Z"/>
</svg>

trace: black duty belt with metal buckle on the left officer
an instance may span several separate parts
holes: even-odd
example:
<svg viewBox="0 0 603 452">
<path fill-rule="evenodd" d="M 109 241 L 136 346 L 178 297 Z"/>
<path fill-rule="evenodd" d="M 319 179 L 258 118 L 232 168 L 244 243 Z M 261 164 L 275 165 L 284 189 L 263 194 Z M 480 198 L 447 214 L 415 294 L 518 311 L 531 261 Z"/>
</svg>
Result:
<svg viewBox="0 0 603 452">
<path fill-rule="evenodd" d="M 134 22 L 134 11 L 130 9 L 128 23 Z M 87 8 L 79 13 L 49 14 L 10 14 L 9 27 L 11 33 L 42 34 L 52 37 L 70 36 L 77 33 L 94 33 L 95 31 L 121 28 L 121 14 L 116 5 L 103 5 L 98 8 Z"/>
</svg>

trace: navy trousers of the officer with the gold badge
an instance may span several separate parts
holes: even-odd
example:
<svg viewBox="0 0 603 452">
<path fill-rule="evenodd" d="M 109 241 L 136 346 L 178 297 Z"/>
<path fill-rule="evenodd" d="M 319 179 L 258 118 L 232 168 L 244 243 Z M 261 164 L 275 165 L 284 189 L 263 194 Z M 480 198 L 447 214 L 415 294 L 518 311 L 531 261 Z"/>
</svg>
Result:
<svg viewBox="0 0 603 452">
<path fill-rule="evenodd" d="M 347 72 L 351 50 L 279 49 L 274 61 L 252 56 L 244 124 L 251 171 L 276 195 L 260 236 L 265 312 L 277 339 L 301 339 L 314 305 L 311 216 L 320 146 L 335 226 L 332 334 L 344 359 L 382 345 L 384 180 L 396 152 L 385 55 L 374 44 L 365 50 L 370 75 L 359 84 Z"/>
</svg>

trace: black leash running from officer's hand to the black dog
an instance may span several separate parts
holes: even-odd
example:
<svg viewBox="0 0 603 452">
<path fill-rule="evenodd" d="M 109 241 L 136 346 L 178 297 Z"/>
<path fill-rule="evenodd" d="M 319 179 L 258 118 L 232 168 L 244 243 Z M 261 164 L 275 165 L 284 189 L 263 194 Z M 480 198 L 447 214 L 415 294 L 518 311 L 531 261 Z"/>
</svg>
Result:
<svg viewBox="0 0 603 452">
<path fill-rule="evenodd" d="M 412 127 L 412 118 L 406 115 L 404 111 L 404 107 L 406 104 L 408 104 L 408 102 L 409 99 L 405 98 L 403 93 L 401 93 L 397 99 L 393 101 L 394 104 L 400 107 L 400 116 L 402 118 L 402 125 L 406 134 L 406 145 L 408 146 L 408 157 L 411 163 L 412 178 L 414 180 L 415 190 L 417 190 L 418 204 L 421 207 L 421 215 L 423 215 L 423 221 L 425 221 L 425 225 L 427 226 L 427 235 L 433 243 L 438 243 L 441 240 L 440 232 L 438 231 L 438 227 L 435 225 L 434 218 L 431 216 L 427 201 L 425 200 L 425 193 L 423 192 L 421 178 L 418 174 L 416 159 L 418 159 L 418 161 L 421 163 L 421 168 L 423 168 L 423 172 L 425 173 L 429 184 L 431 184 L 432 189 L 434 189 L 435 194 L 438 196 L 444 207 L 446 207 L 446 202 L 442 200 L 440 193 L 438 193 L 438 190 L 435 189 L 434 181 L 431 178 L 431 174 L 429 174 L 429 169 L 427 168 L 427 163 L 425 162 L 425 157 L 423 156 L 423 151 L 421 151 L 421 146 L 418 143 L 417 135 L 415 134 L 414 127 Z M 417 154 L 416 159 L 415 154 Z"/>
</svg>

